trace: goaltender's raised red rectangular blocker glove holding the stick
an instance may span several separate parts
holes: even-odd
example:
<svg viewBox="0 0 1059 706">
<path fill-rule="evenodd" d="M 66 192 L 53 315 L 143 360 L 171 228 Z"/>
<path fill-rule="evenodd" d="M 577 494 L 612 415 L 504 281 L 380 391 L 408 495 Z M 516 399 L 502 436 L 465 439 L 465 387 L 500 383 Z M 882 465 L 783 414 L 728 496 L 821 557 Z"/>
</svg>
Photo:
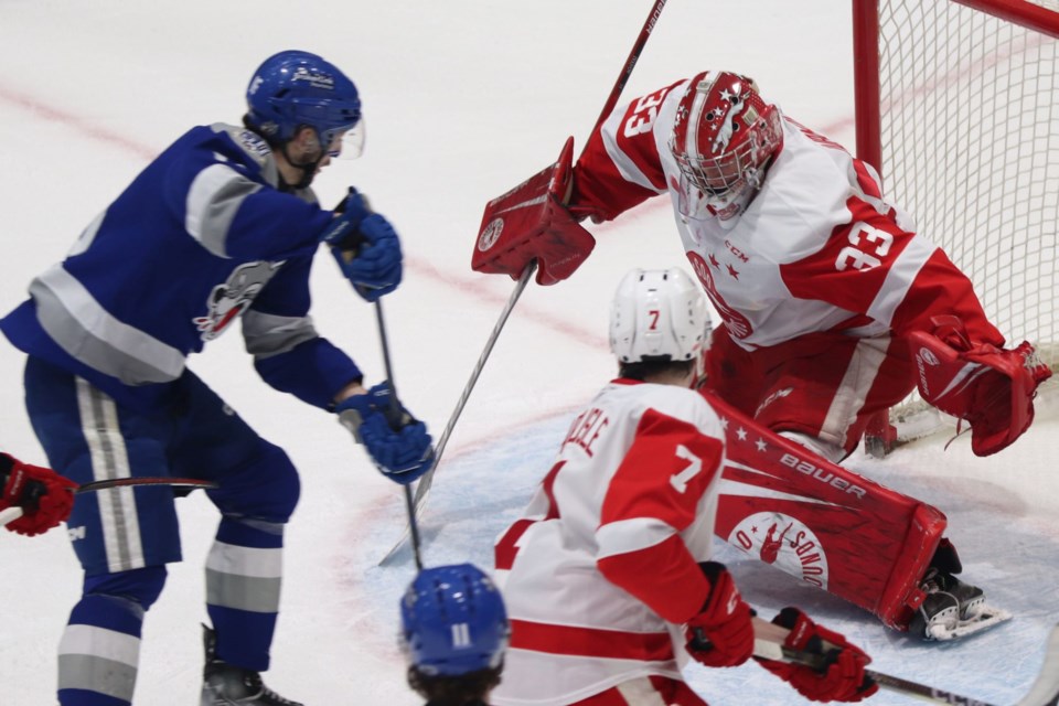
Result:
<svg viewBox="0 0 1059 706">
<path fill-rule="evenodd" d="M 574 274 L 596 239 L 563 205 L 573 162 L 571 137 L 554 164 L 485 204 L 471 269 L 518 279 L 537 260 L 538 285 L 554 285 Z"/>
</svg>

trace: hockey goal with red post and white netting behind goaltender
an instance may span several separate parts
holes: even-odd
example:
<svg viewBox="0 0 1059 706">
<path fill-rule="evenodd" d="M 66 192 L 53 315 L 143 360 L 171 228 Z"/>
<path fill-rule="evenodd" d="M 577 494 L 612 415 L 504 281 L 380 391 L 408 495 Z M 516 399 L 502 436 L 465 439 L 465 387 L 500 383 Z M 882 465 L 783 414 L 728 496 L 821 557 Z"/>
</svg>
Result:
<svg viewBox="0 0 1059 706">
<path fill-rule="evenodd" d="M 1014 345 L 1059 357 L 1059 0 L 853 0 L 856 149 Z M 912 396 L 885 454 L 935 430 Z"/>
</svg>

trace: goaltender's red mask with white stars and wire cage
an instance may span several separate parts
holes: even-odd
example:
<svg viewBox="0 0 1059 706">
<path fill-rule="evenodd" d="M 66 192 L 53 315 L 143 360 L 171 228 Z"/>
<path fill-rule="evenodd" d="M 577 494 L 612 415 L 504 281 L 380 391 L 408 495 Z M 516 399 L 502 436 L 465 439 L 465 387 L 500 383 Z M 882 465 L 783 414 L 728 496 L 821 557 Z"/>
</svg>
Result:
<svg viewBox="0 0 1059 706">
<path fill-rule="evenodd" d="M 705 205 L 721 222 L 730 221 L 761 188 L 769 160 L 782 146 L 780 111 L 762 100 L 752 79 L 729 72 L 696 75 L 677 106 L 670 138 L 682 202 Z"/>
</svg>

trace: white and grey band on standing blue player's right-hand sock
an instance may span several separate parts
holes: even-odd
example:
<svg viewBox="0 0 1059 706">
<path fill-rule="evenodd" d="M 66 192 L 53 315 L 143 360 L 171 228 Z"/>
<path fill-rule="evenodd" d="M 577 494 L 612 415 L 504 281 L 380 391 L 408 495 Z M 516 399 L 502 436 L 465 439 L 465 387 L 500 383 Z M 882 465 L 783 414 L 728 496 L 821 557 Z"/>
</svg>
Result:
<svg viewBox="0 0 1059 706">
<path fill-rule="evenodd" d="M 206 559 L 206 602 L 258 613 L 279 612 L 282 575 L 281 548 L 258 549 L 215 541 Z"/>
</svg>

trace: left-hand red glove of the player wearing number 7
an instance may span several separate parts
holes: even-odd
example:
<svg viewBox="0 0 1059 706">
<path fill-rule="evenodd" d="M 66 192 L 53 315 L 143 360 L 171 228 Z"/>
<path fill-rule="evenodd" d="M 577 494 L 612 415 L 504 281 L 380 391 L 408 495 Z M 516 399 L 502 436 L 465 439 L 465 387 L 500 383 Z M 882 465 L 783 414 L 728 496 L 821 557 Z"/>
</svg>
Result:
<svg viewBox="0 0 1059 706">
<path fill-rule="evenodd" d="M 709 596 L 684 625 L 687 653 L 706 666 L 736 666 L 753 654 L 753 611 L 723 564 L 698 565 L 709 580 Z"/>
</svg>

